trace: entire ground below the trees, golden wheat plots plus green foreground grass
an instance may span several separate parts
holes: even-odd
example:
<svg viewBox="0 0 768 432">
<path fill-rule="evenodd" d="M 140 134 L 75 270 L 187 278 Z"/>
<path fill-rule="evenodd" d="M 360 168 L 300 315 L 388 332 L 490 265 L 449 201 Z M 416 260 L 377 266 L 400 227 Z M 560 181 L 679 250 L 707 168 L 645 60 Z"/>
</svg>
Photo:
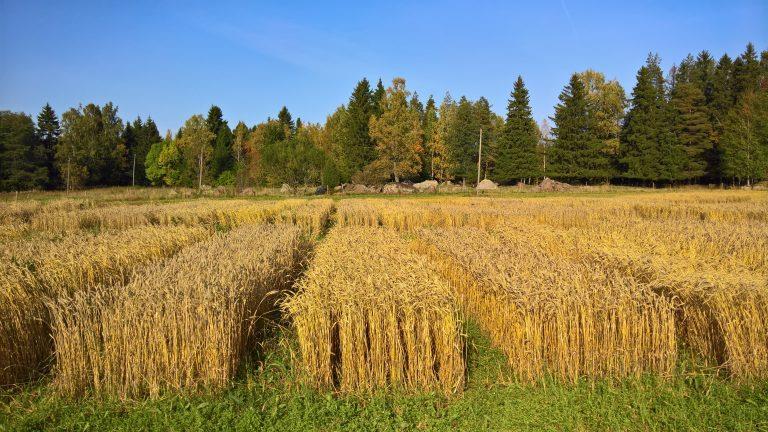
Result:
<svg viewBox="0 0 768 432">
<path fill-rule="evenodd" d="M 768 194 L 0 199 L 0 431 L 768 429 Z"/>
</svg>

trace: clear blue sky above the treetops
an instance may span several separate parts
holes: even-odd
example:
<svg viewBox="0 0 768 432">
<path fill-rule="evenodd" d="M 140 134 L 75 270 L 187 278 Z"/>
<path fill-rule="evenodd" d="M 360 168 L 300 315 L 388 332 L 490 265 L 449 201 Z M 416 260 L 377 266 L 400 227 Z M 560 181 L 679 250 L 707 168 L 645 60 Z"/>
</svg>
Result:
<svg viewBox="0 0 768 432">
<path fill-rule="evenodd" d="M 214 103 L 231 126 L 282 105 L 324 122 L 360 78 L 402 76 L 422 100 L 485 96 L 503 114 L 520 74 L 541 120 L 575 71 L 629 93 L 649 51 L 666 69 L 768 49 L 765 0 L 517 3 L 0 0 L 0 109 L 113 101 L 161 132 Z"/>
</svg>

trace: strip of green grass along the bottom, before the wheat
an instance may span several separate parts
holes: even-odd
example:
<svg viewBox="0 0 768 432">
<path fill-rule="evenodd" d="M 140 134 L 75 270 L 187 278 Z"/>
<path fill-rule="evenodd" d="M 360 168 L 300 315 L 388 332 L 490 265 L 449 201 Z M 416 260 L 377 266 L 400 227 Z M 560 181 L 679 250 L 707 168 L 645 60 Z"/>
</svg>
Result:
<svg viewBox="0 0 768 432">
<path fill-rule="evenodd" d="M 687 372 L 671 381 L 504 384 L 503 355 L 471 325 L 469 341 L 467 388 L 453 398 L 303 388 L 289 366 L 288 334 L 270 342 L 258 371 L 216 394 L 74 401 L 44 384 L 0 394 L 0 431 L 768 430 L 768 383 L 737 386 L 681 366 Z"/>
</svg>

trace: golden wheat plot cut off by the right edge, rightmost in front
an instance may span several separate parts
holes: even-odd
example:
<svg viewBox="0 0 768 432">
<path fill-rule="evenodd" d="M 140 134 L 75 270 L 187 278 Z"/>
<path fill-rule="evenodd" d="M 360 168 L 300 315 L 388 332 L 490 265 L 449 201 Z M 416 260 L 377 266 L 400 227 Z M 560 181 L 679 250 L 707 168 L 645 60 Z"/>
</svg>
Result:
<svg viewBox="0 0 768 432">
<path fill-rule="evenodd" d="M 607 259 L 675 299 L 678 338 L 740 380 L 768 376 L 768 279 L 721 271 L 624 246 L 597 245 Z"/>
</svg>

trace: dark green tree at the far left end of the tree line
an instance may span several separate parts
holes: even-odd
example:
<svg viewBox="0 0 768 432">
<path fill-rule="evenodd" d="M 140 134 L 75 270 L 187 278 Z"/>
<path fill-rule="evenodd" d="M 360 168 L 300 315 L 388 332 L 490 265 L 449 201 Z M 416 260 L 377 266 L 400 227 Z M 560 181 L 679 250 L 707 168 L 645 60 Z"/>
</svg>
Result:
<svg viewBox="0 0 768 432">
<path fill-rule="evenodd" d="M 39 189 L 47 182 L 45 147 L 32 118 L 0 111 L 0 190 Z"/>
</svg>

